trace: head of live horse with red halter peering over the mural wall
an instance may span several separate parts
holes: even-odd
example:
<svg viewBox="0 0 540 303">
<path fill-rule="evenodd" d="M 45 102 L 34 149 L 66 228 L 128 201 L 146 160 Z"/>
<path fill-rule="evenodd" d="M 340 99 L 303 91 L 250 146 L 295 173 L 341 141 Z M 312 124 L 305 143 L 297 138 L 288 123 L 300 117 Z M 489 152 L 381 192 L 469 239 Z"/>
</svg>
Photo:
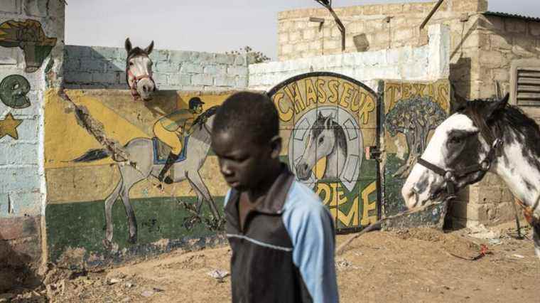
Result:
<svg viewBox="0 0 540 303">
<path fill-rule="evenodd" d="M 153 50 L 153 41 L 144 49 L 131 47 L 131 41 L 126 38 L 126 82 L 131 89 L 131 95 L 140 96 L 148 101 L 156 91 L 156 83 L 152 78 L 152 60 L 148 55 Z"/>
</svg>

